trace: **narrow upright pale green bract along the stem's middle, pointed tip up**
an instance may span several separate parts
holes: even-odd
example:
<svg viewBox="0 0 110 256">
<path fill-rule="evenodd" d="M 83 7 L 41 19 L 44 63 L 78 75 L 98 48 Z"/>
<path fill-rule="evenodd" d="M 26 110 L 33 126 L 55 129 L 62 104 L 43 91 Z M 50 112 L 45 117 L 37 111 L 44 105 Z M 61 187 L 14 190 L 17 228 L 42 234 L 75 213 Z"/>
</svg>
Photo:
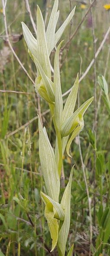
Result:
<svg viewBox="0 0 110 256">
<path fill-rule="evenodd" d="M 58 45 L 57 51 L 55 53 L 54 60 L 54 88 L 55 88 L 55 109 L 54 109 L 54 117 L 57 129 L 61 128 L 61 119 L 62 119 L 62 111 L 63 111 L 63 99 L 61 93 L 61 82 L 60 82 L 60 68 L 59 68 L 59 50 L 61 47 L 61 43 Z"/>
</svg>

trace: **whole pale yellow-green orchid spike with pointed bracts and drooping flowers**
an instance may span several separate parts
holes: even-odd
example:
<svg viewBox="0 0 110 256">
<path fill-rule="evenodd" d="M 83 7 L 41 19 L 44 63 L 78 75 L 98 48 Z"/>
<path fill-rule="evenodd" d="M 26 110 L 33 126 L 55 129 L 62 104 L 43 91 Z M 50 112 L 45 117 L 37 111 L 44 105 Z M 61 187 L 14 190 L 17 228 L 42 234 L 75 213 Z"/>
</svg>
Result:
<svg viewBox="0 0 110 256">
<path fill-rule="evenodd" d="M 54 152 L 46 129 L 45 127 L 42 127 L 38 116 L 39 157 L 46 188 L 46 194 L 41 191 L 41 197 L 45 204 L 45 218 L 52 238 L 51 252 L 55 249 L 55 246 L 57 246 L 59 256 L 65 256 L 66 242 L 70 228 L 71 182 L 73 175 L 72 167 L 68 184 L 65 188 L 61 202 L 59 202 L 62 156 L 66 148 L 68 156 L 71 157 L 69 153 L 71 143 L 83 129 L 84 113 L 93 100 L 93 97 L 91 97 L 91 99 L 84 102 L 74 112 L 79 85 L 77 75 L 71 92 L 65 102 L 65 106 L 63 107 L 59 68 L 59 51 L 63 41 L 60 42 L 55 52 L 54 79 L 52 81 L 49 56 L 53 48 L 56 48 L 56 44 L 74 16 L 74 11 L 75 7 L 61 27 L 56 31 L 59 10 L 58 0 L 55 0 L 49 23 L 45 31 L 42 12 L 39 6 L 37 6 L 36 38 L 34 38 L 26 24 L 22 22 L 23 34 L 28 47 L 28 52 L 37 69 L 35 91 L 38 92 L 39 95 L 49 104 L 56 132 L 56 145 Z M 68 252 L 68 256 L 72 256 L 72 251 L 73 245 Z"/>
</svg>

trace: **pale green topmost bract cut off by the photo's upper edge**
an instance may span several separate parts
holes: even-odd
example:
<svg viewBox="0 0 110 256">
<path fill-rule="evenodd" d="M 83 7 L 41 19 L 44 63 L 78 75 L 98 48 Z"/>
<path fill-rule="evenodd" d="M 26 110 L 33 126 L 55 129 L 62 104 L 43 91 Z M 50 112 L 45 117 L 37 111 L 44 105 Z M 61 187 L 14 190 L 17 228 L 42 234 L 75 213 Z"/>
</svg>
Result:
<svg viewBox="0 0 110 256">
<path fill-rule="evenodd" d="M 47 30 L 46 30 L 46 39 L 47 39 L 47 47 L 48 47 L 49 55 L 55 46 L 55 30 L 56 30 L 58 17 L 59 17 L 59 11 L 57 12 L 57 10 L 58 10 L 58 0 L 55 0 L 52 8 L 52 13 L 49 19 L 49 23 L 47 26 Z"/>
</svg>

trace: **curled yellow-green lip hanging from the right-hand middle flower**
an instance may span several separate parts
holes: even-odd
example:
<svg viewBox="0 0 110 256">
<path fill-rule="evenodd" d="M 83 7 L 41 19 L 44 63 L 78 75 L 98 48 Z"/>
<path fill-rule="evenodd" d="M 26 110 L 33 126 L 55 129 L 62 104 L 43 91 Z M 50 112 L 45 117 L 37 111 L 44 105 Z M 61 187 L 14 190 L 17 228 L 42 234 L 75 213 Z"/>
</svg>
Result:
<svg viewBox="0 0 110 256">
<path fill-rule="evenodd" d="M 69 154 L 69 148 L 71 146 L 72 141 L 74 140 L 74 138 L 76 136 L 78 136 L 78 134 L 81 132 L 81 130 L 84 127 L 84 119 L 82 118 L 78 124 L 78 126 L 74 129 L 70 139 L 68 140 L 67 146 L 66 146 L 66 152 L 68 154 L 69 157 L 71 157 L 71 155 Z"/>
</svg>

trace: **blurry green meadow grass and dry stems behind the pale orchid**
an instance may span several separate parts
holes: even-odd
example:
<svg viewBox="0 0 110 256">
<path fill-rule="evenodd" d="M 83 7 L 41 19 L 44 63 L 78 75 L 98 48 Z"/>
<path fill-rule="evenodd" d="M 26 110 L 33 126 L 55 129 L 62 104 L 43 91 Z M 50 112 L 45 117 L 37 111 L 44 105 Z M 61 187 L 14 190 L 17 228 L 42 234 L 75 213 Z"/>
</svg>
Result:
<svg viewBox="0 0 110 256">
<path fill-rule="evenodd" d="M 29 0 L 35 23 L 36 4 L 39 4 L 45 17 L 45 12 L 50 14 L 52 3 L 52 0 Z M 59 25 L 67 17 L 71 6 L 74 7 L 76 4 L 72 23 L 63 36 L 65 39 L 63 45 L 65 45 L 76 31 L 73 39 L 61 51 L 63 93 L 71 88 L 78 72 L 80 77 L 85 74 L 85 70 L 94 58 L 94 53 L 97 52 L 106 37 L 107 30 L 110 30 L 110 11 L 104 8 L 104 5 L 109 3 L 110 1 L 105 0 L 94 1 L 94 5 L 91 7 L 92 13 L 89 10 L 85 16 L 91 4 L 89 0 L 59 0 Z M 84 21 L 78 27 L 83 17 L 85 17 Z M 13 49 L 31 78 L 35 80 L 36 67 L 27 54 L 20 23 L 20 21 L 24 21 L 34 34 L 25 1 L 7 0 L 6 20 Z M 69 158 L 66 153 L 63 157 L 65 180 L 62 180 L 62 192 L 68 182 L 71 167 L 75 164 L 71 192 L 71 227 L 67 245 L 68 251 L 74 242 L 74 256 L 88 256 L 90 248 L 91 255 L 110 256 L 109 229 L 105 229 L 105 226 L 100 223 L 103 209 L 107 210 L 110 207 L 110 115 L 101 99 L 100 86 L 97 83 L 97 76 L 102 74 L 107 80 L 109 89 L 109 32 L 96 58 L 95 65 L 92 65 L 80 84 L 77 105 L 93 96 L 96 91 L 95 111 L 93 102 L 84 116 L 85 126 L 80 133 L 80 140 L 77 137 L 71 145 L 73 158 Z M 55 131 L 48 105 L 35 94 L 32 82 L 13 56 L 5 34 L 1 1 L 0 256 L 45 256 L 50 255 L 51 238 L 44 219 L 44 205 L 40 197 L 40 190 L 45 191 L 45 186 L 39 164 L 39 133 L 36 113 L 41 111 L 43 125 L 48 131 L 53 147 L 55 146 Z M 52 64 L 53 57 L 54 51 L 51 56 Z M 94 113 L 97 120 L 94 119 Z M 96 138 L 94 138 L 94 126 Z M 92 135 L 89 131 L 90 128 L 93 129 Z M 94 147 L 94 140 L 96 147 Z M 91 212 L 88 207 L 88 199 Z M 108 216 L 107 227 L 109 226 L 110 217 Z M 106 238 L 104 237 L 105 233 L 107 234 Z M 102 234 L 100 239 L 99 234 Z M 57 254 L 54 252 L 52 255 Z"/>
</svg>

